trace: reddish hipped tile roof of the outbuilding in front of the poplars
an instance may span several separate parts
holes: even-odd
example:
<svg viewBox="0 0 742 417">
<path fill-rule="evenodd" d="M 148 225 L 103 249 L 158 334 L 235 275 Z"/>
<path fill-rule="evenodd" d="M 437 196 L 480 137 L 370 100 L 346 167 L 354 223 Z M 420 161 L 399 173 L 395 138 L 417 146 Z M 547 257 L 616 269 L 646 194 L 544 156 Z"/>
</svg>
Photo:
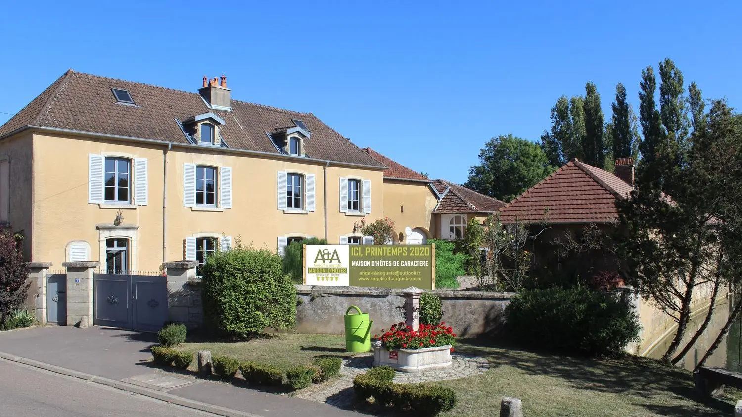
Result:
<svg viewBox="0 0 742 417">
<path fill-rule="evenodd" d="M 500 209 L 502 221 L 548 224 L 616 221 L 616 199 L 631 186 L 600 168 L 570 161 Z"/>
</svg>

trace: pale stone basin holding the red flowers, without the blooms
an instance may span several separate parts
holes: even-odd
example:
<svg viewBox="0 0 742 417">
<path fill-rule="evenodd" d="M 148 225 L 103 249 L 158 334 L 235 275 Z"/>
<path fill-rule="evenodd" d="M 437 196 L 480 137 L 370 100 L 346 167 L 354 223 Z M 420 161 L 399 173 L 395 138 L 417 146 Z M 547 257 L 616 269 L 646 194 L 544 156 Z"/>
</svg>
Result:
<svg viewBox="0 0 742 417">
<path fill-rule="evenodd" d="M 451 366 L 451 345 L 389 351 L 381 342 L 373 345 L 373 366 L 388 365 L 402 372 L 423 372 Z"/>
</svg>

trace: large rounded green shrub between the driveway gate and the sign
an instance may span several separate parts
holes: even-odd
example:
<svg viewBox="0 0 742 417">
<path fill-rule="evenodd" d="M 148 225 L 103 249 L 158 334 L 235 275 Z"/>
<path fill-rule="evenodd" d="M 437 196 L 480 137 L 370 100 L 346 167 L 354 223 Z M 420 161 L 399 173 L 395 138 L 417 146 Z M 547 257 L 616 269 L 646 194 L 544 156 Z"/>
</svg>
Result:
<svg viewBox="0 0 742 417">
<path fill-rule="evenodd" d="M 283 260 L 252 247 L 217 252 L 203 265 L 203 310 L 220 336 L 246 339 L 296 321 L 296 289 Z"/>
</svg>

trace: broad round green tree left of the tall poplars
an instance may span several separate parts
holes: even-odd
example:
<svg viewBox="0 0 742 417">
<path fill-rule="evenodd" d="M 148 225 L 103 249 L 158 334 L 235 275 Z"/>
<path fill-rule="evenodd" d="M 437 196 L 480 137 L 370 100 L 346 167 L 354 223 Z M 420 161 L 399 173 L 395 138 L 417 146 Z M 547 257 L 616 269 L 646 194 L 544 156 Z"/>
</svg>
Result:
<svg viewBox="0 0 742 417">
<path fill-rule="evenodd" d="M 469 170 L 465 187 L 510 201 L 548 176 L 553 168 L 538 144 L 512 134 L 490 139 Z"/>
</svg>

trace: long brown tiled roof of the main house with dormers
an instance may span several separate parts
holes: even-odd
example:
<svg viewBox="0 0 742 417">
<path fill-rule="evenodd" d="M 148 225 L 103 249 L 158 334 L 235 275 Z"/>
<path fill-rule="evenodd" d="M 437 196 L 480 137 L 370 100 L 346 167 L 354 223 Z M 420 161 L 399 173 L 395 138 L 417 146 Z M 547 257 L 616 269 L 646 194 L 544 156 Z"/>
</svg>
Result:
<svg viewBox="0 0 742 417">
<path fill-rule="evenodd" d="M 200 87 L 200 82 L 194 82 L 194 87 Z M 117 104 L 111 88 L 128 90 L 137 105 Z M 234 99 L 231 105 L 232 111 L 214 110 L 198 93 L 68 70 L 0 127 L 0 137 L 31 125 L 188 144 L 175 119 L 212 112 L 226 121 L 220 133 L 229 147 L 279 155 L 266 132 L 293 126 L 291 119 L 299 119 L 312 132 L 304 141 L 309 158 L 384 168 L 312 113 Z"/>
</svg>

